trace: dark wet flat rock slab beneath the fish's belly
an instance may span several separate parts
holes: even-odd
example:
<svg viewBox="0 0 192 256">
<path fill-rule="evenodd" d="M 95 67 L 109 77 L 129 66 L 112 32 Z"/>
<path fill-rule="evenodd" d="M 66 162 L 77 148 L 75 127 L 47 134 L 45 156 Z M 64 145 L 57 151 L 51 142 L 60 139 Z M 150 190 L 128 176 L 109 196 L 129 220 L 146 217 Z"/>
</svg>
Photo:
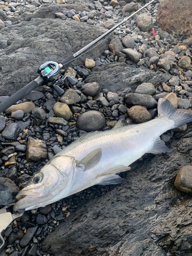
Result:
<svg viewBox="0 0 192 256">
<path fill-rule="evenodd" d="M 190 247 L 179 245 L 191 236 L 191 195 L 178 191 L 174 181 L 179 168 L 191 162 L 192 139 L 185 138 L 191 127 L 168 144 L 172 152 L 147 155 L 121 174 L 125 183 L 82 202 L 44 240 L 42 250 L 54 256 L 190 253 Z"/>
</svg>

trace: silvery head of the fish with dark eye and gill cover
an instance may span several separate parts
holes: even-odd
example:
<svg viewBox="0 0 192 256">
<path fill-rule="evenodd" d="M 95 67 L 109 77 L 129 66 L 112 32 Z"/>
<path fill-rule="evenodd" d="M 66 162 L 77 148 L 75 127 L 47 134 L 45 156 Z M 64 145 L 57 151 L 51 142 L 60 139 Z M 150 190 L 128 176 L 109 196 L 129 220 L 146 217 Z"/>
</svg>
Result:
<svg viewBox="0 0 192 256">
<path fill-rule="evenodd" d="M 19 191 L 14 211 L 31 210 L 46 206 L 68 196 L 74 176 L 75 159 L 70 156 L 55 156 L 35 173 L 28 184 Z"/>
</svg>

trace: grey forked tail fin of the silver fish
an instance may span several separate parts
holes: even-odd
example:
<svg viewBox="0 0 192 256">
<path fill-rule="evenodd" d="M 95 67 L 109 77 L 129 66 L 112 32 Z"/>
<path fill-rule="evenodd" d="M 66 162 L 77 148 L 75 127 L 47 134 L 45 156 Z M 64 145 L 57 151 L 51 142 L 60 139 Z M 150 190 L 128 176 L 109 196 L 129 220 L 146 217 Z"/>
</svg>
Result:
<svg viewBox="0 0 192 256">
<path fill-rule="evenodd" d="M 192 121 L 192 115 L 190 113 L 178 111 L 167 99 L 160 98 L 157 109 L 159 116 L 164 116 L 174 121 L 172 129 Z"/>
</svg>

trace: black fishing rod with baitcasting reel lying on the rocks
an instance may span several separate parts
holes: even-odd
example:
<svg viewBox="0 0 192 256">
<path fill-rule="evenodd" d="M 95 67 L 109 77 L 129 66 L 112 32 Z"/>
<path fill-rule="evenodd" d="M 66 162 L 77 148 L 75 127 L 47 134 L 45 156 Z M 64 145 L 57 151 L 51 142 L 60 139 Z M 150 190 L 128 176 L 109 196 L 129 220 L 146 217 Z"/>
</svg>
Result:
<svg viewBox="0 0 192 256">
<path fill-rule="evenodd" d="M 83 47 L 81 50 L 76 52 L 73 55 L 68 56 L 65 60 L 61 61 L 59 64 L 54 61 L 48 61 L 42 64 L 39 69 L 37 70 L 37 73 L 39 76 L 27 84 L 27 86 L 24 86 L 22 89 L 14 93 L 12 96 L 10 96 L 8 99 L 4 100 L 0 104 L 0 113 L 4 112 L 6 109 L 8 109 L 11 105 L 15 104 L 18 100 L 25 97 L 28 93 L 33 91 L 35 88 L 40 86 L 42 83 L 46 82 L 54 82 L 53 89 L 58 93 L 59 96 L 61 96 L 64 91 L 58 86 L 58 84 L 62 84 L 66 78 L 66 76 L 62 76 L 60 73 L 60 70 L 62 68 L 65 68 L 68 64 L 73 62 L 76 58 L 82 55 L 82 53 L 85 53 L 89 48 L 91 48 L 93 45 L 96 44 L 99 40 L 101 40 L 106 35 L 109 35 L 111 32 L 116 30 L 119 26 L 127 22 L 130 18 L 132 18 L 134 15 L 145 9 L 148 5 L 151 5 L 156 0 L 152 0 L 151 2 L 145 4 L 142 8 L 140 8 L 138 11 L 131 14 L 129 17 L 125 17 L 122 22 L 118 23 L 116 26 L 111 28 L 109 31 L 105 32 L 92 42 L 88 44 L 87 46 Z"/>
</svg>

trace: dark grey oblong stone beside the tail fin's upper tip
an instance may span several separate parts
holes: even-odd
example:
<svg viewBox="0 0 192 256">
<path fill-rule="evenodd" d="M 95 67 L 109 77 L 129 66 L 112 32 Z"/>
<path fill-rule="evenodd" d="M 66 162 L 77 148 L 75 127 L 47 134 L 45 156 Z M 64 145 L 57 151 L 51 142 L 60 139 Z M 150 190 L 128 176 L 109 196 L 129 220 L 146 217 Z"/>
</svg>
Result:
<svg viewBox="0 0 192 256">
<path fill-rule="evenodd" d="M 130 93 L 124 96 L 126 105 L 141 105 L 147 109 L 157 106 L 157 101 L 151 95 L 143 95 L 139 93 Z"/>
</svg>

